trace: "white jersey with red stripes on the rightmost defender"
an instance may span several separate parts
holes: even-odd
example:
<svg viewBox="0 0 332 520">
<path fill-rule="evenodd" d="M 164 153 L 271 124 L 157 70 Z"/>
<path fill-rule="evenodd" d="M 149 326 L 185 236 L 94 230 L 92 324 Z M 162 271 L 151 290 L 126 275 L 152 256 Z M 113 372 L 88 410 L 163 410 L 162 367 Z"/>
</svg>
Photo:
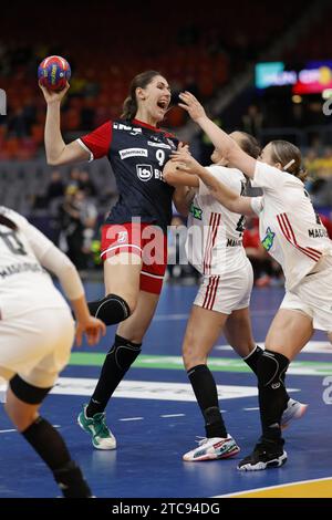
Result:
<svg viewBox="0 0 332 520">
<path fill-rule="evenodd" d="M 257 162 L 252 186 L 263 190 L 251 200 L 262 246 L 282 267 L 291 290 L 323 256 L 332 254 L 332 241 L 299 178 Z"/>
</svg>

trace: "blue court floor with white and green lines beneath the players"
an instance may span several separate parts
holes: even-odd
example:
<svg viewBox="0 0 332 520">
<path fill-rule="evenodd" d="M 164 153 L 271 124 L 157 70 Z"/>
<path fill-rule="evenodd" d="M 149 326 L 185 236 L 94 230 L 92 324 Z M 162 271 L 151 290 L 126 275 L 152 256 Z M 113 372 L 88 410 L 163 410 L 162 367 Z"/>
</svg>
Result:
<svg viewBox="0 0 332 520">
<path fill-rule="evenodd" d="M 86 290 L 90 299 L 103 295 L 100 283 L 87 283 Z M 310 406 L 305 416 L 286 430 L 289 459 L 282 468 L 257 472 L 236 469 L 260 433 L 256 377 L 224 337 L 214 350 L 210 368 L 219 386 L 225 422 L 241 453 L 229 460 L 181 460 L 181 455 L 195 447 L 196 436 L 204 436 L 200 412 L 180 361 L 196 290 L 179 285 L 165 285 L 163 290 L 143 355 L 107 407 L 116 450 L 94 450 L 89 436 L 76 425 L 115 329 L 108 330 L 97 347 L 73 350 L 71 364 L 46 398 L 42 413 L 60 428 L 94 493 L 107 498 L 206 498 L 332 478 L 332 346 L 322 333 L 315 334 L 289 371 L 291 396 Z M 251 313 L 257 342 L 263 342 L 282 295 L 279 288 L 253 291 Z M 43 462 L 13 430 L 0 407 L 0 498 L 56 495 L 58 488 Z"/>
</svg>

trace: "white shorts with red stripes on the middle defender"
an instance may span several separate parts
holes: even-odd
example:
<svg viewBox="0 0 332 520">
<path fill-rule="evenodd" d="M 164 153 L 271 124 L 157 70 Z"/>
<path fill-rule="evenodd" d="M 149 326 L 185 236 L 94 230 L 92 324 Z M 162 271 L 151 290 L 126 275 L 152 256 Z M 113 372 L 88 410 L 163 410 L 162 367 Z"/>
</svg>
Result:
<svg viewBox="0 0 332 520">
<path fill-rule="evenodd" d="M 249 260 L 243 269 L 230 274 L 205 275 L 194 305 L 231 314 L 232 311 L 249 306 L 252 283 L 253 274 Z"/>
</svg>

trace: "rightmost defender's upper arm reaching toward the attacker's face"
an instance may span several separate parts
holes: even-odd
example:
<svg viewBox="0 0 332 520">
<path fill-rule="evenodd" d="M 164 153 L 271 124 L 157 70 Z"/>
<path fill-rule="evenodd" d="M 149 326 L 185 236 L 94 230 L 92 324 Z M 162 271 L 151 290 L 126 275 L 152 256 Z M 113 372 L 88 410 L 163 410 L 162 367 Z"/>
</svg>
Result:
<svg viewBox="0 0 332 520">
<path fill-rule="evenodd" d="M 204 107 L 193 94 L 184 92 L 179 94 L 179 98 L 181 100 L 179 106 L 188 112 L 191 119 L 209 136 L 216 148 L 222 150 L 224 157 L 235 168 L 240 169 L 248 177 L 253 177 L 256 159 L 246 154 L 226 132 L 208 118 Z"/>
</svg>

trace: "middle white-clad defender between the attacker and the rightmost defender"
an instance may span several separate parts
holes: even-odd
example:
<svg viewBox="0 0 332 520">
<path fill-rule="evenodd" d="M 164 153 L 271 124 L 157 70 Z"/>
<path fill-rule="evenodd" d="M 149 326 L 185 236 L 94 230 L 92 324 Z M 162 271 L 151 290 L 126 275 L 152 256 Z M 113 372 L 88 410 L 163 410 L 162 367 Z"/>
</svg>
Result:
<svg viewBox="0 0 332 520">
<path fill-rule="evenodd" d="M 252 157 L 258 156 L 260 148 L 253 137 L 235 132 L 231 138 Z M 227 167 L 227 160 L 217 149 L 211 159 L 216 164 L 204 169 L 238 195 L 242 194 L 246 185 L 243 174 Z M 164 169 L 164 178 L 173 186 L 186 185 L 195 190 L 188 216 L 187 256 L 203 274 L 187 324 L 183 357 L 205 418 L 206 438 L 185 454 L 184 460 L 228 458 L 236 455 L 239 447 L 227 433 L 207 357 L 222 332 L 255 373 L 262 354 L 251 333 L 249 301 L 253 277 L 242 247 L 243 217 L 224 207 L 199 177 L 175 169 L 174 163 Z M 293 399 L 289 399 L 289 405 L 284 423 L 297 417 L 304 406 Z"/>
</svg>

